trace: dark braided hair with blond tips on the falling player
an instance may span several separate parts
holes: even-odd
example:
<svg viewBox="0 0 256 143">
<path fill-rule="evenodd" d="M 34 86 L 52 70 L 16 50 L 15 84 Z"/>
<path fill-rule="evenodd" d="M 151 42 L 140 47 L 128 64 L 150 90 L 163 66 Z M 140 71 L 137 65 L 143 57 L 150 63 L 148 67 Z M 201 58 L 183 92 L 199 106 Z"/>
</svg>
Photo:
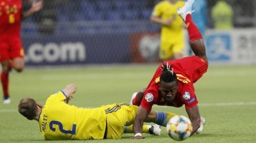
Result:
<svg viewBox="0 0 256 143">
<path fill-rule="evenodd" d="M 165 65 L 163 63 L 161 69 L 163 71 L 162 71 L 162 74 L 160 76 L 160 82 L 161 81 L 167 82 L 167 83 L 169 83 L 169 82 L 178 82 L 176 73 L 173 72 L 172 65 L 169 65 L 169 63 L 167 63 Z"/>
</svg>

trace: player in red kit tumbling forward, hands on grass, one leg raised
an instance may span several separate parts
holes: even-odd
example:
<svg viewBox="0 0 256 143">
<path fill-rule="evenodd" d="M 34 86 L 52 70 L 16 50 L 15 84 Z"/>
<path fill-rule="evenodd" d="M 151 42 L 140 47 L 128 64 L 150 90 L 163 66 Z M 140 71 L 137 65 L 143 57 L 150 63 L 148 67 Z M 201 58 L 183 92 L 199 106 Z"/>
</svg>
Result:
<svg viewBox="0 0 256 143">
<path fill-rule="evenodd" d="M 153 104 L 173 107 L 182 107 L 185 104 L 193 127 L 192 134 L 203 130 L 205 120 L 199 114 L 193 83 L 207 71 L 208 62 L 201 33 L 191 18 L 193 3 L 194 0 L 188 0 L 178 10 L 178 14 L 187 25 L 190 46 L 195 56 L 166 61 L 157 68 L 145 92 L 134 94 L 131 103 L 140 107 L 134 120 L 133 139 L 145 138 L 141 135 L 142 125 Z M 158 125 L 166 120 L 166 114 L 157 114 Z"/>
</svg>

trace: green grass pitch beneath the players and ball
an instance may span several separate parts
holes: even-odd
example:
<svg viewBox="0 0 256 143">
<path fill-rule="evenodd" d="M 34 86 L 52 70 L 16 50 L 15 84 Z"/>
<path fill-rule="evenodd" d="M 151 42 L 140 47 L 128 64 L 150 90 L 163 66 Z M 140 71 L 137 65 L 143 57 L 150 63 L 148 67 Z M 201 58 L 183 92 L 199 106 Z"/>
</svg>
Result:
<svg viewBox="0 0 256 143">
<path fill-rule="evenodd" d="M 21 98 L 32 97 L 41 104 L 46 98 L 75 83 L 78 91 L 70 104 L 98 107 L 130 101 L 133 92 L 147 86 L 158 65 L 85 66 L 81 68 L 29 69 L 10 74 L 11 104 L 0 103 L 0 142 L 39 143 L 44 141 L 38 122 L 29 121 L 17 111 Z M 206 119 L 202 134 L 195 134 L 184 143 L 255 143 L 256 142 L 256 66 L 210 66 L 194 84 L 200 114 Z M 2 90 L 1 90 L 2 95 Z M 187 116 L 185 108 L 154 106 Z M 131 140 L 124 134 L 119 140 L 47 141 L 104 143 L 169 143 L 162 127 L 161 136 L 144 134 L 145 139 Z"/>
</svg>

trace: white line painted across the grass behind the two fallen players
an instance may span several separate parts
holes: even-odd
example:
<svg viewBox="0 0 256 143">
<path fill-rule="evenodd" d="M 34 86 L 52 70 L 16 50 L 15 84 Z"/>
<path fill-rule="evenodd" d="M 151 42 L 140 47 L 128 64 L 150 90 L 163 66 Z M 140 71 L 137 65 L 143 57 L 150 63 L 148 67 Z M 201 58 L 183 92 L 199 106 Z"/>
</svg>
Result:
<svg viewBox="0 0 256 143">
<path fill-rule="evenodd" d="M 232 105 L 256 105 L 256 102 L 232 102 L 232 103 L 201 103 L 198 106 L 232 106 Z M 156 108 L 166 108 L 169 106 L 155 106 Z M 154 107 L 154 108 L 155 108 Z M 96 107 L 87 107 L 96 108 Z M 0 113 L 18 112 L 18 109 L 0 109 Z"/>
</svg>

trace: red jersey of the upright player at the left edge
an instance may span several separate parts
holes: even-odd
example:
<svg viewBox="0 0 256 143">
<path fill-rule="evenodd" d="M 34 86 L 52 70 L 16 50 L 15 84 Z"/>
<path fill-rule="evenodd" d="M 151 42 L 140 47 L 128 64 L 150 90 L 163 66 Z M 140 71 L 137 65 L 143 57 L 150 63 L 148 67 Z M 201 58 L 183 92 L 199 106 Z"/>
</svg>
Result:
<svg viewBox="0 0 256 143">
<path fill-rule="evenodd" d="M 20 37 L 22 0 L 0 1 L 0 38 Z"/>
</svg>

